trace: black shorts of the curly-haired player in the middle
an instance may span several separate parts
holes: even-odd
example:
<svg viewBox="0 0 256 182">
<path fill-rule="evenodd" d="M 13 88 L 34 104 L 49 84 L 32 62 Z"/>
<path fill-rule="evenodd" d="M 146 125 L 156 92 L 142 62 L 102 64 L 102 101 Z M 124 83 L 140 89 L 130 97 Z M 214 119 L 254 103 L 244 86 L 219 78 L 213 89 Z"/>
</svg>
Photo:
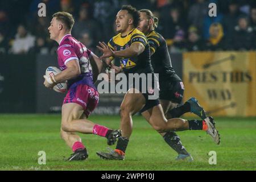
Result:
<svg viewBox="0 0 256 182">
<path fill-rule="evenodd" d="M 148 85 L 148 82 L 150 85 Z M 141 113 L 160 104 L 159 82 L 158 78 L 156 78 L 154 75 L 152 75 L 151 80 L 148 80 L 148 77 L 146 77 L 146 80 L 140 80 L 139 85 L 136 85 L 135 81 L 133 81 L 133 84 L 129 84 L 128 88 L 135 88 L 139 90 L 139 92 L 141 92 L 146 99 L 146 105 L 144 105 L 144 107 L 141 109 Z"/>
</svg>

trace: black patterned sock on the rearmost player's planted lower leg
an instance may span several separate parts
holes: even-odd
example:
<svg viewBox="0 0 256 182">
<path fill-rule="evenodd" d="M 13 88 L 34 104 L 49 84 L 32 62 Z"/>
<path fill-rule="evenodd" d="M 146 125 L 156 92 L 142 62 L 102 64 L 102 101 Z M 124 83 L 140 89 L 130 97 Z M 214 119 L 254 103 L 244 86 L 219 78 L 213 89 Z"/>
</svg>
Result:
<svg viewBox="0 0 256 182">
<path fill-rule="evenodd" d="M 168 132 L 163 138 L 166 143 L 177 152 L 177 154 L 189 155 L 188 151 L 182 145 L 180 137 L 175 132 Z"/>
</svg>

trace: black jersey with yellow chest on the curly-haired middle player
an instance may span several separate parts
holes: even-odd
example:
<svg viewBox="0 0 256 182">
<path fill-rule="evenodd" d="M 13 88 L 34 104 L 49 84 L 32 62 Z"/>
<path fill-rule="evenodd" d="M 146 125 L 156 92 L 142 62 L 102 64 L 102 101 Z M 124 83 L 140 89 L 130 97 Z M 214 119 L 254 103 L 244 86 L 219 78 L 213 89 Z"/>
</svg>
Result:
<svg viewBox="0 0 256 182">
<path fill-rule="evenodd" d="M 134 28 L 126 36 L 121 36 L 121 33 L 115 35 L 112 39 L 109 40 L 108 46 L 113 51 L 121 51 L 127 49 L 133 43 L 142 43 L 145 47 L 144 51 L 134 57 L 115 57 L 116 61 L 119 61 L 123 72 L 128 73 L 153 73 L 151 60 L 150 60 L 150 46 L 148 44 L 146 36 L 139 31 L 137 28 Z M 114 59 L 114 57 L 110 57 Z"/>
</svg>

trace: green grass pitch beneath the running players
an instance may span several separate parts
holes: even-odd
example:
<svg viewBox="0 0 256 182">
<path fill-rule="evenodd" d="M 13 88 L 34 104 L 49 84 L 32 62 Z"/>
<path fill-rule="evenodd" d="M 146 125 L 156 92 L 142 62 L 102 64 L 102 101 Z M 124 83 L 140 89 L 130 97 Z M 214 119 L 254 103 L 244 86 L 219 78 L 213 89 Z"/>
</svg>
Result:
<svg viewBox="0 0 256 182">
<path fill-rule="evenodd" d="M 89 119 L 113 129 L 119 127 L 118 116 Z M 89 158 L 67 162 L 72 151 L 60 138 L 60 114 L 0 114 L 0 170 L 256 170 L 256 118 L 216 118 L 220 146 L 204 131 L 178 132 L 194 158 L 192 163 L 175 161 L 176 152 L 141 116 L 133 121 L 126 160 L 98 158 L 96 151 L 106 149 L 106 139 L 79 134 Z M 39 151 L 46 152 L 46 165 L 38 164 Z M 216 165 L 208 163 L 209 151 L 216 151 Z"/>
</svg>

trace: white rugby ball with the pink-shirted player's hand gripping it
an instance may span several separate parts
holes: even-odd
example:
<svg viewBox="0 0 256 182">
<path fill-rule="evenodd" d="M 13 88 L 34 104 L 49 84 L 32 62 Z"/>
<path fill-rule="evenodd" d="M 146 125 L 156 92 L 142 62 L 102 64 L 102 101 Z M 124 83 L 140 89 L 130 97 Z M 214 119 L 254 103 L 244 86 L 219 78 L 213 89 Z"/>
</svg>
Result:
<svg viewBox="0 0 256 182">
<path fill-rule="evenodd" d="M 61 73 L 60 69 L 57 67 L 48 67 L 46 69 L 46 75 L 44 78 L 46 79 L 44 85 L 48 88 L 52 88 L 56 92 L 66 92 L 67 90 L 67 82 L 55 83 L 54 80 L 51 78 L 57 74 Z"/>
</svg>

